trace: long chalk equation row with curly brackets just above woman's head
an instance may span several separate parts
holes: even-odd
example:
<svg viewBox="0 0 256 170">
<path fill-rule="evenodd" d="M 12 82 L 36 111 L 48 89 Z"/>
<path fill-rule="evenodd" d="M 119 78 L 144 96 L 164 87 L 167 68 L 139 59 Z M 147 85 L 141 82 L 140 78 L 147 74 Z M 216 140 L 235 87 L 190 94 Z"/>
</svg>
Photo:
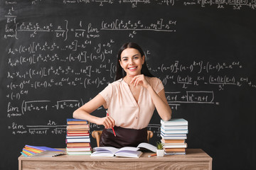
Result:
<svg viewBox="0 0 256 170">
<path fill-rule="evenodd" d="M 18 40 L 22 38 L 22 36 L 26 35 L 29 38 L 35 38 L 36 36 L 40 36 L 41 34 L 49 34 L 58 38 L 60 40 L 68 40 L 68 37 L 75 38 L 99 38 L 101 32 L 107 30 L 129 30 L 131 33 L 129 37 L 136 34 L 135 31 L 161 31 L 161 32 L 176 32 L 176 24 L 177 21 L 175 19 L 166 20 L 164 18 L 159 18 L 155 22 L 146 23 L 146 21 L 132 21 L 126 19 L 115 19 L 114 21 L 101 21 L 101 23 L 97 23 L 93 25 L 92 23 L 85 23 L 80 21 L 76 28 L 69 26 L 69 21 L 65 20 L 58 25 L 54 23 L 33 23 L 33 22 L 22 22 L 16 23 L 15 21 L 9 21 L 9 16 L 6 16 L 6 34 L 4 38 L 15 38 Z M 14 16 L 13 16 L 14 17 Z M 18 17 L 18 16 L 16 16 Z M 9 22 L 11 23 L 9 23 Z M 13 26 L 15 23 L 15 28 Z M 100 28 L 98 27 L 100 26 Z"/>
</svg>

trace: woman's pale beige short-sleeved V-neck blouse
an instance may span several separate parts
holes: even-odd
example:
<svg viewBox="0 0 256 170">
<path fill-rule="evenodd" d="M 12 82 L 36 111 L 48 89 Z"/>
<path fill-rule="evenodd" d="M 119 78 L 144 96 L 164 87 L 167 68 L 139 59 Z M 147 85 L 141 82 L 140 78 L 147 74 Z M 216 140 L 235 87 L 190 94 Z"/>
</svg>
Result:
<svg viewBox="0 0 256 170">
<path fill-rule="evenodd" d="M 161 80 L 156 77 L 146 77 L 156 94 L 164 89 Z M 119 79 L 109 84 L 100 92 L 106 103 L 107 112 L 115 120 L 115 125 L 122 128 L 142 129 L 149 125 L 154 113 L 154 103 L 149 91 L 141 86 L 139 100 L 136 102 L 129 85 Z"/>
</svg>

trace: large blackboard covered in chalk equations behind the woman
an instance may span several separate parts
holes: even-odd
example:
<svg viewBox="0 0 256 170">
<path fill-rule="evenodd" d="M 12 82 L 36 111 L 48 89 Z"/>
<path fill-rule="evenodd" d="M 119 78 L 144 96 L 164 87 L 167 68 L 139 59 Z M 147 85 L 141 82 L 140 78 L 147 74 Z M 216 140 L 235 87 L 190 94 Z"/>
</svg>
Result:
<svg viewBox="0 0 256 170">
<path fill-rule="evenodd" d="M 213 169 L 255 169 L 255 8 L 253 0 L 1 1 L 0 169 L 17 169 L 24 145 L 65 147 L 66 118 L 114 81 L 124 42 L 142 46 L 173 118 L 188 120 L 188 148 L 213 157 Z M 159 127 L 155 112 L 153 145 Z"/>
</svg>

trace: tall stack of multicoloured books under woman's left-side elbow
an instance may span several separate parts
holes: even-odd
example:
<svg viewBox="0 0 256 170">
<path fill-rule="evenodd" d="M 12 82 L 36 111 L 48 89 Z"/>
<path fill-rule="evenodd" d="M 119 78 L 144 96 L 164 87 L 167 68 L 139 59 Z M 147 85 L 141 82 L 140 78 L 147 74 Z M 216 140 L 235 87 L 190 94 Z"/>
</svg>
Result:
<svg viewBox="0 0 256 170">
<path fill-rule="evenodd" d="M 92 154 L 89 130 L 87 120 L 67 119 L 67 154 Z"/>
</svg>

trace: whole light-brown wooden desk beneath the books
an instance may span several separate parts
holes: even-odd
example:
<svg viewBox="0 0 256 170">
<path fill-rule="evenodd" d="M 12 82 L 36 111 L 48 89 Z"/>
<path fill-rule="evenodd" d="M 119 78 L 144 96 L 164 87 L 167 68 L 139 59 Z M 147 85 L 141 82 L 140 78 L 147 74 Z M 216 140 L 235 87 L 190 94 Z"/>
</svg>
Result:
<svg viewBox="0 0 256 170">
<path fill-rule="evenodd" d="M 212 169 L 212 158 L 202 149 L 186 149 L 186 155 L 139 158 L 90 157 L 61 155 L 58 157 L 18 157 L 18 169 Z"/>
</svg>

